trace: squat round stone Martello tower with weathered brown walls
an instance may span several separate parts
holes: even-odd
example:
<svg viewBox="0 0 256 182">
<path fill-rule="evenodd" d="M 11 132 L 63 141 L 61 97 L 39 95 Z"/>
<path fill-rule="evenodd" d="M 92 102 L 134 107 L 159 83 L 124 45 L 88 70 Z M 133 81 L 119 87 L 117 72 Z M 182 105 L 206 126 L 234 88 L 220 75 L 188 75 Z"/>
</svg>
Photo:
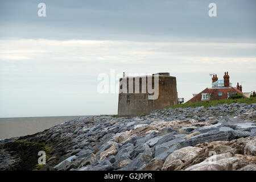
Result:
<svg viewBox="0 0 256 182">
<path fill-rule="evenodd" d="M 118 116 L 148 114 L 175 104 L 176 77 L 169 73 L 119 79 Z"/>
</svg>

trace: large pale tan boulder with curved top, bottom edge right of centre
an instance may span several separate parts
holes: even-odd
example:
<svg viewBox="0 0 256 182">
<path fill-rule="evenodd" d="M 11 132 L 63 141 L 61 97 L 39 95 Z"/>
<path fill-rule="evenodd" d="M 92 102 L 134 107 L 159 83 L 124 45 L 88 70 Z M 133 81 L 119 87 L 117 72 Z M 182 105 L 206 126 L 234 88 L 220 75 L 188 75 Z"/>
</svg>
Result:
<svg viewBox="0 0 256 182">
<path fill-rule="evenodd" d="M 202 148 L 198 147 L 184 147 L 172 152 L 172 154 L 166 158 L 162 170 L 174 170 L 177 165 L 180 166 L 188 160 L 195 158 L 201 150 Z"/>
</svg>

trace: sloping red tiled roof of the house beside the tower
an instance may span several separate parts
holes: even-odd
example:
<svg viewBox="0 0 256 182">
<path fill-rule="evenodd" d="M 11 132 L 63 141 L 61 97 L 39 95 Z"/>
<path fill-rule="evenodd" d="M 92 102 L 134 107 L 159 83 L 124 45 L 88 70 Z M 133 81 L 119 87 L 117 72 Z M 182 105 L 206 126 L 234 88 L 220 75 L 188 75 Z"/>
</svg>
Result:
<svg viewBox="0 0 256 182">
<path fill-rule="evenodd" d="M 222 96 L 218 96 L 218 92 L 222 92 Z M 236 92 L 242 94 L 240 90 L 234 87 L 230 88 L 206 88 L 196 96 L 192 97 L 191 100 L 187 102 L 197 102 L 201 101 L 202 93 L 210 93 L 210 101 L 213 100 L 226 100 L 228 98 L 228 92 Z M 245 97 L 243 95 L 243 97 Z M 246 98 L 246 97 L 245 97 Z"/>
</svg>

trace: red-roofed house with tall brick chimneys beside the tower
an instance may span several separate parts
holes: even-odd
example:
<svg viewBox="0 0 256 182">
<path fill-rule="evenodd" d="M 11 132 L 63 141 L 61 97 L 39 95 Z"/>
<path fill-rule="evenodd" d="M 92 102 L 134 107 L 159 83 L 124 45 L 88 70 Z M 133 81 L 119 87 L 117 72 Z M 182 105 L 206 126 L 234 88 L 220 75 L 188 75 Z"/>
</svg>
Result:
<svg viewBox="0 0 256 182">
<path fill-rule="evenodd" d="M 199 94 L 193 94 L 191 100 L 187 102 L 197 102 L 197 101 L 213 101 L 213 100 L 226 100 L 234 93 L 242 94 L 242 85 L 237 83 L 236 88 L 232 87 L 232 83 L 229 82 L 229 73 L 225 72 L 223 80 L 218 80 L 217 75 L 212 77 L 212 88 L 206 88 Z"/>
</svg>

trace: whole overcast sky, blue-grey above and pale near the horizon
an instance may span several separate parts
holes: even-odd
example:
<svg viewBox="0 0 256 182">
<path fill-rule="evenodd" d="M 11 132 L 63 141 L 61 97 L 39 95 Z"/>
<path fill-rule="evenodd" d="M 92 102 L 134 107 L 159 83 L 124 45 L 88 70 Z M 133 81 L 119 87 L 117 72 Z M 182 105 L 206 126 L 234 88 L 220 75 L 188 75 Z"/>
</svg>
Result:
<svg viewBox="0 0 256 182">
<path fill-rule="evenodd" d="M 39 3 L 46 16 L 38 16 Z M 209 3 L 217 16 L 210 17 Z M 185 101 L 209 73 L 256 90 L 256 1 L 0 0 L 0 117 L 117 114 L 98 76 L 170 72 Z"/>
</svg>

